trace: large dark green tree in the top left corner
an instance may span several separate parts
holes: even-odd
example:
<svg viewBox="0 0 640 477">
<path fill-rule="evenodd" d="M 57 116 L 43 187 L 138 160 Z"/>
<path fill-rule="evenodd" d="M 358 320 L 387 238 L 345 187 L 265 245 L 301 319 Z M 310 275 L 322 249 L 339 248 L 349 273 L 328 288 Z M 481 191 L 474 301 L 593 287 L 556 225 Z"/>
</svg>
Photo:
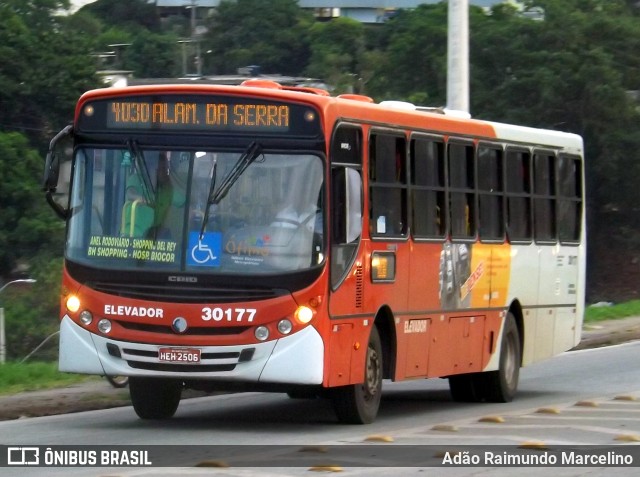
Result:
<svg viewBox="0 0 640 477">
<path fill-rule="evenodd" d="M 74 103 L 94 87 L 86 36 L 67 28 L 55 9 L 66 1 L 0 4 L 0 127 L 23 131 L 44 148 L 72 119 Z"/>
</svg>

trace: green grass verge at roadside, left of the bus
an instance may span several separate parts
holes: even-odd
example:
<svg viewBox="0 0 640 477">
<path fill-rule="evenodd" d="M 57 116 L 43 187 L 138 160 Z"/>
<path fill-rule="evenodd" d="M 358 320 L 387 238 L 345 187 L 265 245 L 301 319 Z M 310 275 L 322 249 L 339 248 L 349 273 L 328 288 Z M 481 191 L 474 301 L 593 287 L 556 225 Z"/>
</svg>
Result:
<svg viewBox="0 0 640 477">
<path fill-rule="evenodd" d="M 57 363 L 0 364 L 0 395 L 67 386 L 96 379 L 95 376 L 61 373 Z"/>
</svg>

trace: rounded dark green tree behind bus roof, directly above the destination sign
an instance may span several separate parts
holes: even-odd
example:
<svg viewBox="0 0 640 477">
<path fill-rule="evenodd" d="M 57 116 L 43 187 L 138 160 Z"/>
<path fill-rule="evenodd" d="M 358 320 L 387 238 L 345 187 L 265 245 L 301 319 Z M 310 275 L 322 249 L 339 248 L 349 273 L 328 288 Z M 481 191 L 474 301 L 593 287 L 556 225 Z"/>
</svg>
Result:
<svg viewBox="0 0 640 477">
<path fill-rule="evenodd" d="M 307 65 L 313 21 L 296 0 L 222 0 L 202 42 L 205 71 L 233 74 L 259 65 L 263 72 L 298 75 Z"/>
</svg>

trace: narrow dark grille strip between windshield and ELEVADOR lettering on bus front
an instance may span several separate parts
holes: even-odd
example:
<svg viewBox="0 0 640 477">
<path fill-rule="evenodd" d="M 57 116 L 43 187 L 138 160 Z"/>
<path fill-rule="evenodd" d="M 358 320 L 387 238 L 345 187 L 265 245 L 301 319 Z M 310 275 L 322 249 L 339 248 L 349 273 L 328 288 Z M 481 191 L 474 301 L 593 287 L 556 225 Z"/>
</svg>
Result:
<svg viewBox="0 0 640 477">
<path fill-rule="evenodd" d="M 92 282 L 87 285 L 101 293 L 138 300 L 168 303 L 232 303 L 266 300 L 283 296 L 286 290 L 273 288 L 222 288 L 210 286 L 139 285 Z"/>
</svg>

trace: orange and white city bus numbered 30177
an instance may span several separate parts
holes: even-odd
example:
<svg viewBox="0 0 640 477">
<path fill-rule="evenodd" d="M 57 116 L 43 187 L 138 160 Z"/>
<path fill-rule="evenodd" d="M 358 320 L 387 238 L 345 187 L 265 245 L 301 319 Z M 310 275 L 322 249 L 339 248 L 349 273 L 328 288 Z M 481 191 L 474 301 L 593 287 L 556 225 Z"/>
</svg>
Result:
<svg viewBox="0 0 640 477">
<path fill-rule="evenodd" d="M 60 369 L 129 376 L 143 419 L 186 388 L 326 397 L 348 423 L 385 379 L 510 401 L 580 340 L 583 171 L 573 134 L 270 81 L 87 92 L 45 170 Z"/>
</svg>

